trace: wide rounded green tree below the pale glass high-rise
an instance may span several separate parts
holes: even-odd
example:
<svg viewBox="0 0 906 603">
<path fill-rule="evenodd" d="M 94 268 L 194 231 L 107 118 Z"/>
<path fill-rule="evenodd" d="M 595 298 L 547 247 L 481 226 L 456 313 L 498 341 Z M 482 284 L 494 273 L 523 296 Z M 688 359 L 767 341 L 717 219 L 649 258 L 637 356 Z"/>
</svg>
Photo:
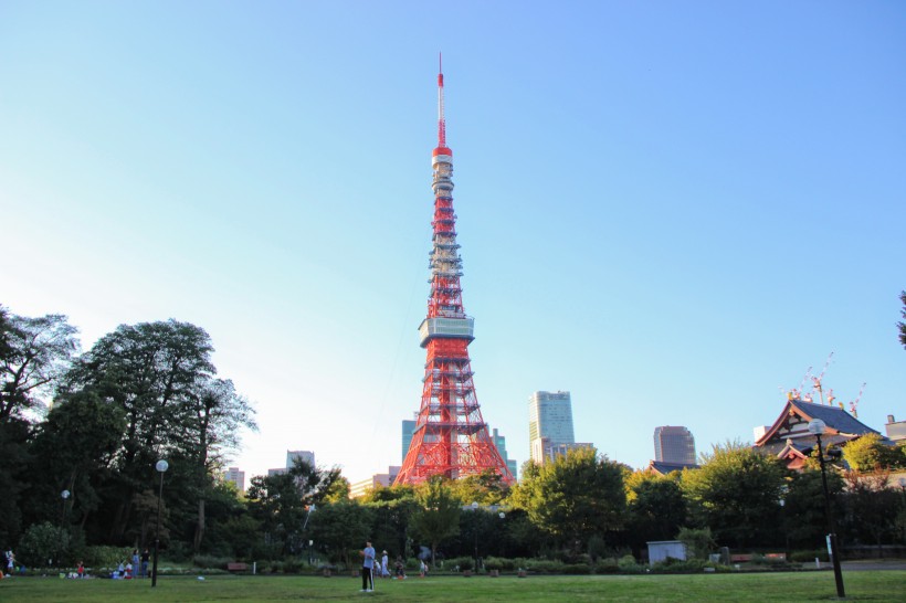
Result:
<svg viewBox="0 0 906 603">
<path fill-rule="evenodd" d="M 584 550 L 590 537 L 603 538 L 622 527 L 625 465 L 599 456 L 593 448 L 578 448 L 525 469 L 509 500 L 560 544 Z"/>
</svg>

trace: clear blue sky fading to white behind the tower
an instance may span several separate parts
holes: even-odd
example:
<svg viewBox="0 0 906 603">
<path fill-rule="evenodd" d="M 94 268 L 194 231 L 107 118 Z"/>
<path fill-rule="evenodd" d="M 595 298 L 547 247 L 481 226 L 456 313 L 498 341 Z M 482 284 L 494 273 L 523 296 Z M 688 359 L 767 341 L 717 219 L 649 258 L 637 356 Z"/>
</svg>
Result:
<svg viewBox="0 0 906 603">
<path fill-rule="evenodd" d="M 361 479 L 418 410 L 443 51 L 484 417 L 631 466 L 752 440 L 818 373 L 906 419 L 906 4 L 0 2 L 0 304 L 211 335 Z"/>
</svg>

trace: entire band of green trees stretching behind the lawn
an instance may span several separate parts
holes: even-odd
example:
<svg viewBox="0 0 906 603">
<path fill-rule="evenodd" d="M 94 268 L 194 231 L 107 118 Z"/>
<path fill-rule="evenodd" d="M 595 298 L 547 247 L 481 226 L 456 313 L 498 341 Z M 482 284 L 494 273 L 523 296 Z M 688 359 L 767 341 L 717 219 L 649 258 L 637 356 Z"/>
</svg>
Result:
<svg viewBox="0 0 906 603">
<path fill-rule="evenodd" d="M 681 536 L 703 551 L 822 547 L 817 461 L 790 472 L 737 442 L 667 476 L 578 449 L 527 463 L 513 487 L 493 474 L 435 477 L 357 500 L 337 468 L 299 462 L 253 477 L 242 495 L 220 475 L 240 427 L 255 429 L 254 411 L 217 377 L 212 352 L 204 330 L 171 319 L 122 325 L 83 353 L 65 317 L 0 307 L 0 546 L 19 547 L 27 563 L 72 563 L 86 547 L 145 548 L 159 533 L 171 559 L 347 567 L 366 538 L 392 557 L 457 558 L 462 567 L 494 557 L 640 557 L 647 541 Z M 170 464 L 160 500 L 159 458 Z M 844 546 L 906 544 L 906 489 L 889 478 L 906 467 L 904 448 L 862 437 L 834 463 Z"/>
</svg>

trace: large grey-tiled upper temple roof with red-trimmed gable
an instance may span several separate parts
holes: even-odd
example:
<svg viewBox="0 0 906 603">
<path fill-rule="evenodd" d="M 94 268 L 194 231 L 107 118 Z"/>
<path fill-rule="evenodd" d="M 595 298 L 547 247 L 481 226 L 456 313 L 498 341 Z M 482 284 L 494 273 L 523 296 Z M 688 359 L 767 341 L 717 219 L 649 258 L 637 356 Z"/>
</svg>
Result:
<svg viewBox="0 0 906 603">
<path fill-rule="evenodd" d="M 798 398 L 787 400 L 783 411 L 773 425 L 758 438 L 756 447 L 765 447 L 778 454 L 796 448 L 800 453 L 814 445 L 809 422 L 820 419 L 826 425 L 825 444 L 840 444 L 870 433 L 878 433 L 839 406 L 804 402 Z"/>
</svg>

